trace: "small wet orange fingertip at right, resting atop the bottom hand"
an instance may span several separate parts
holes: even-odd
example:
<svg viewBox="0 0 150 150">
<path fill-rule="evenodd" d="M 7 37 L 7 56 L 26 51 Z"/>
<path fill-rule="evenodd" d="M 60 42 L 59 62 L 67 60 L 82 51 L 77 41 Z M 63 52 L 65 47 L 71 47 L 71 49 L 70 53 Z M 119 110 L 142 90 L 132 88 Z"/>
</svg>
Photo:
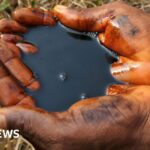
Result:
<svg viewBox="0 0 150 150">
<path fill-rule="evenodd" d="M 126 93 L 129 87 L 131 87 L 131 85 L 110 85 L 106 90 L 106 95 L 117 95 Z"/>
</svg>

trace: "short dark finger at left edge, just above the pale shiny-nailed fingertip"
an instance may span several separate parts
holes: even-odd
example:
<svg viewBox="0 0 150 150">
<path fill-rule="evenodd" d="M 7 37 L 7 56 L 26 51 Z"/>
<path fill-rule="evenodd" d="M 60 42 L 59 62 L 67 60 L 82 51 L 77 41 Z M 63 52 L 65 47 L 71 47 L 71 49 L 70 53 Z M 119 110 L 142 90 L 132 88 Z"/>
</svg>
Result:
<svg viewBox="0 0 150 150">
<path fill-rule="evenodd" d="M 0 39 L 11 43 L 17 43 L 23 40 L 21 36 L 15 34 L 1 34 Z"/>
</svg>

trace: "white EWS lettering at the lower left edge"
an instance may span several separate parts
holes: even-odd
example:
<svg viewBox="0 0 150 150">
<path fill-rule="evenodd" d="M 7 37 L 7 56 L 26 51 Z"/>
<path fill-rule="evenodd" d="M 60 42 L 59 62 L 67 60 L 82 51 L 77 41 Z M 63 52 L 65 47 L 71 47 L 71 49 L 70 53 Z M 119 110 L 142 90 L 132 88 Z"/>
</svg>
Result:
<svg viewBox="0 0 150 150">
<path fill-rule="evenodd" d="M 19 138 L 19 130 L 2 130 L 0 129 L 0 138 Z"/>
</svg>

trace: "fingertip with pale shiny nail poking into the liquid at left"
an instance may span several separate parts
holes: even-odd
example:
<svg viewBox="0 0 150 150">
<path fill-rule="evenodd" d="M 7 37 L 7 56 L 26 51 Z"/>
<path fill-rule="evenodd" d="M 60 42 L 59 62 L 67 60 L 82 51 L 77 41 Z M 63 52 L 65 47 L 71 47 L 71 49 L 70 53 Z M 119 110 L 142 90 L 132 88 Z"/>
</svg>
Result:
<svg viewBox="0 0 150 150">
<path fill-rule="evenodd" d="M 19 47 L 23 52 L 33 54 L 38 51 L 37 47 L 30 43 L 17 43 L 17 47 Z"/>
</svg>

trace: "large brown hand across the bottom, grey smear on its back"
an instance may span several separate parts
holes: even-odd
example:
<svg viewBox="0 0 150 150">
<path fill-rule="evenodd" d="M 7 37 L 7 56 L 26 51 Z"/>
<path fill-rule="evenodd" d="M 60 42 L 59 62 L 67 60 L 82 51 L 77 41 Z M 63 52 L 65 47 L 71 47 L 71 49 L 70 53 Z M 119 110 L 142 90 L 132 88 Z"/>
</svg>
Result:
<svg viewBox="0 0 150 150">
<path fill-rule="evenodd" d="M 65 112 L 28 106 L 0 109 L 0 128 L 19 129 L 37 150 L 149 149 L 150 87 L 114 86 Z M 111 87 L 108 90 L 112 92 Z"/>
</svg>

